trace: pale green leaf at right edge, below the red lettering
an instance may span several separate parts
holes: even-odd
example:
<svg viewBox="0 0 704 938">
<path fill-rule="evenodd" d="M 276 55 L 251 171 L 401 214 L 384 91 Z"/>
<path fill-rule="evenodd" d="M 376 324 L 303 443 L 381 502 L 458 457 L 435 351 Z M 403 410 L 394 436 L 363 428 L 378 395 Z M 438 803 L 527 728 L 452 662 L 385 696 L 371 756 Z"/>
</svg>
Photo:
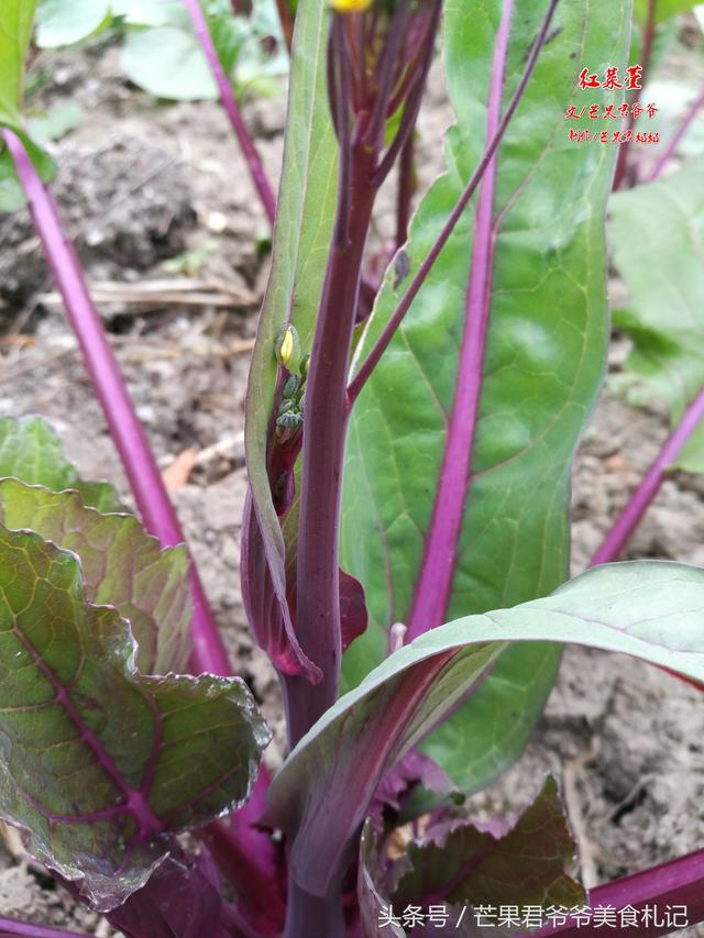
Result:
<svg viewBox="0 0 704 938">
<path fill-rule="evenodd" d="M 614 323 L 634 342 L 616 386 L 634 402 L 664 402 L 676 422 L 704 387 L 704 158 L 616 192 L 609 217 L 614 263 L 630 294 Z M 678 466 L 704 471 L 701 428 Z"/>
</svg>

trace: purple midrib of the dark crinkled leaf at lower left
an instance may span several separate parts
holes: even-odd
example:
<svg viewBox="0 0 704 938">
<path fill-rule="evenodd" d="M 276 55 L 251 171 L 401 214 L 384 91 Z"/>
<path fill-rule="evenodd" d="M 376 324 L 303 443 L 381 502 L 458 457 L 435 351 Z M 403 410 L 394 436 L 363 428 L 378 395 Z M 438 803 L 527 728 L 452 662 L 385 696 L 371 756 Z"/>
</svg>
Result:
<svg viewBox="0 0 704 938">
<path fill-rule="evenodd" d="M 124 780 L 122 773 L 116 765 L 112 755 L 110 755 L 108 750 L 105 748 L 102 740 L 100 740 L 99 737 L 86 726 L 78 708 L 70 697 L 68 689 L 58 681 L 52 669 L 42 660 L 34 645 L 16 626 L 14 626 L 13 632 L 32 655 L 36 669 L 53 687 L 56 693 L 56 700 L 62 705 L 68 718 L 80 732 L 80 739 L 94 752 L 106 775 L 108 775 L 113 785 L 124 796 L 123 810 L 124 813 L 131 814 L 136 821 L 139 828 L 136 837 L 140 839 L 146 839 L 155 834 L 162 832 L 165 829 L 164 821 L 154 814 L 144 793 L 138 788 L 133 788 Z M 94 817 L 98 817 L 99 815 L 102 815 L 102 813 L 98 812 L 94 815 L 85 815 L 85 820 L 86 823 L 90 823 Z M 51 819 L 57 819 L 53 818 L 51 814 L 47 815 L 47 817 Z"/>
</svg>

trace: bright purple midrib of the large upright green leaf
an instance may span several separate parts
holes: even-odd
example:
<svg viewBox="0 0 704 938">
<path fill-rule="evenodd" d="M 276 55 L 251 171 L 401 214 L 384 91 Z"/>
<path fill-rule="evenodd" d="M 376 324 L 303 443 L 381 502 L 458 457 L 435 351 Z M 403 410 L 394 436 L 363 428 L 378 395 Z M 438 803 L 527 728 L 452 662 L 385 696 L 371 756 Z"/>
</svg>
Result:
<svg viewBox="0 0 704 938">
<path fill-rule="evenodd" d="M 486 120 L 486 139 L 497 131 L 502 113 L 504 73 L 515 0 L 504 0 L 496 34 Z M 470 488 L 470 468 L 482 394 L 486 331 L 491 309 L 495 233 L 494 190 L 497 154 L 486 168 L 474 221 L 472 269 L 466 294 L 466 316 L 460 347 L 458 379 L 446 439 L 432 518 L 408 618 L 406 640 L 411 641 L 444 621 Z"/>
</svg>

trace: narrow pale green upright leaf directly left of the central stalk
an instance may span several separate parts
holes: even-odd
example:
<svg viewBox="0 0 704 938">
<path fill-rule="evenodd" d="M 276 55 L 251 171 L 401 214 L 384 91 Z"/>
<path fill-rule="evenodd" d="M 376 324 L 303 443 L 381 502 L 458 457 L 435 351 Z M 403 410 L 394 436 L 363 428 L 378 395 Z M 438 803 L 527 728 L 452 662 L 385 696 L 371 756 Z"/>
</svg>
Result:
<svg viewBox="0 0 704 938">
<path fill-rule="evenodd" d="M 276 336 L 290 318 L 301 352 L 310 352 L 332 231 L 338 156 L 326 90 L 328 21 L 327 0 L 308 0 L 296 18 L 272 273 L 246 400 L 248 471 L 255 510 L 264 539 L 280 563 L 285 551 L 266 476 L 266 432 L 276 384 Z"/>
</svg>

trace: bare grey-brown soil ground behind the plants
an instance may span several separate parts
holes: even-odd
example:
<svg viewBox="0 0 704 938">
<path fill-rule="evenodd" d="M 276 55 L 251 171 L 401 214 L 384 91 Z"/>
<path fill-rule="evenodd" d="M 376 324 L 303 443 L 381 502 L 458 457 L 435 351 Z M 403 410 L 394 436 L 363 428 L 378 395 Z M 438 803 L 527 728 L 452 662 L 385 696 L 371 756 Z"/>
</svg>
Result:
<svg viewBox="0 0 704 938">
<path fill-rule="evenodd" d="M 42 64 L 42 63 L 40 63 Z M 266 233 L 229 125 L 216 103 L 157 106 L 127 86 L 110 45 L 45 56 L 52 106 L 78 100 L 86 119 L 56 147 L 56 192 L 91 283 L 122 294 L 101 304 L 111 340 L 164 467 L 196 453 L 174 497 L 239 672 L 277 729 L 277 685 L 245 625 L 239 587 L 239 518 L 245 490 L 243 399 L 249 350 L 266 278 L 257 239 Z M 283 97 L 248 106 L 274 178 Z M 420 167 L 438 165 L 449 122 L 441 87 L 425 109 Z M 166 263 L 166 266 L 165 266 Z M 195 276 L 199 305 L 125 287 Z M 112 285 L 112 286 L 110 286 Z M 173 286 L 173 285 L 172 285 Z M 182 284 L 175 285 L 180 289 Z M 129 493 L 75 340 L 51 295 L 24 212 L 0 219 L 0 416 L 42 413 L 62 433 L 86 477 Z M 612 371 L 623 361 L 614 341 Z M 583 569 L 667 434 L 663 416 L 634 411 L 607 393 L 574 470 L 574 571 Z M 668 481 L 628 556 L 704 564 L 704 483 Z M 476 799 L 477 810 L 526 802 L 547 770 L 562 780 L 588 885 L 701 848 L 704 735 L 701 697 L 638 662 L 569 649 L 538 733 L 510 772 Z M 18 862 L 0 841 L 0 913 L 77 927 L 107 923 Z M 704 929 L 683 931 L 704 936 Z"/>
</svg>

